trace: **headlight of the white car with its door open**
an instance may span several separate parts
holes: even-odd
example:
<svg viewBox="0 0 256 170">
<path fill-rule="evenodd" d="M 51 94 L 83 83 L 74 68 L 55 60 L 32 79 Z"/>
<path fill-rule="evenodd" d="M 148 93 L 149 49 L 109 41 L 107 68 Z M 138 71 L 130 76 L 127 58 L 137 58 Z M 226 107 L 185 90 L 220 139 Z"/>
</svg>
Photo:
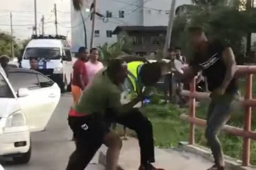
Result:
<svg viewBox="0 0 256 170">
<path fill-rule="evenodd" d="M 24 126 L 26 125 L 26 117 L 20 111 L 11 114 L 7 120 L 5 127 Z"/>
</svg>

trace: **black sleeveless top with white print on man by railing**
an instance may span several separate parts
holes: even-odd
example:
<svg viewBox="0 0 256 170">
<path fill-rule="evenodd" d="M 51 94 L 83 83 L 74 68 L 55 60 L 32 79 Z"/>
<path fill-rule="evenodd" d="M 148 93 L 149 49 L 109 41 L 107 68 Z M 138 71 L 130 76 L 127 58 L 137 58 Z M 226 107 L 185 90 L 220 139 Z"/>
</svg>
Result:
<svg viewBox="0 0 256 170">
<path fill-rule="evenodd" d="M 209 91 L 213 91 L 220 87 L 224 81 L 226 74 L 226 66 L 222 60 L 222 52 L 226 46 L 222 45 L 220 41 L 213 41 L 209 43 L 207 53 L 195 54 L 194 59 L 189 65 L 196 67 L 203 71 L 203 75 L 207 77 Z M 226 94 L 234 93 L 238 90 L 237 79 L 233 78 L 228 88 L 226 88 Z"/>
</svg>

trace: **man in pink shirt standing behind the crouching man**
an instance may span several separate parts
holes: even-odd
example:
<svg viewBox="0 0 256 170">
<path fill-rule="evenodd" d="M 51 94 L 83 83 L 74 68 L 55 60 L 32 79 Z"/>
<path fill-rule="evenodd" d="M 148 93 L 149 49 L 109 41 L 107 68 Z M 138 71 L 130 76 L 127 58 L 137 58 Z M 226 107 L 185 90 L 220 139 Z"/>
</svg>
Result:
<svg viewBox="0 0 256 170">
<path fill-rule="evenodd" d="M 98 49 L 92 48 L 90 49 L 90 58 L 89 61 L 85 63 L 87 75 L 88 75 L 88 82 L 92 82 L 94 76 L 104 68 L 103 64 L 98 61 Z"/>
</svg>

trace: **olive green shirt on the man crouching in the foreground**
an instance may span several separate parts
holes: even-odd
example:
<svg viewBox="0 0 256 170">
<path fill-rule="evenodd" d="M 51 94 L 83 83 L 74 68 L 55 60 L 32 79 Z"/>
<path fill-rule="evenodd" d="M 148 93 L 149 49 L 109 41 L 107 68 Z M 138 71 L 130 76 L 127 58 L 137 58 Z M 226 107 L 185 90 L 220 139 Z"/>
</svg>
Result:
<svg viewBox="0 0 256 170">
<path fill-rule="evenodd" d="M 121 87 L 116 86 L 105 70 L 99 71 L 88 87 L 82 92 L 73 109 L 81 114 L 100 113 L 104 115 L 107 108 L 122 112 Z"/>
</svg>

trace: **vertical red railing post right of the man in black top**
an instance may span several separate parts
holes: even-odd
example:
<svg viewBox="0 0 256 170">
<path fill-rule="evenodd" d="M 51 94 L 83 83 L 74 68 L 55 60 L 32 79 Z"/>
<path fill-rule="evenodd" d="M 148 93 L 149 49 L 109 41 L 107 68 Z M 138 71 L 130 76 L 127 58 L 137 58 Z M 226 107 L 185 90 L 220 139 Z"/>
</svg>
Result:
<svg viewBox="0 0 256 170">
<path fill-rule="evenodd" d="M 250 100 L 252 98 L 252 90 L 253 90 L 253 75 L 248 74 L 246 77 L 246 94 L 245 100 Z M 245 107 L 245 132 L 251 130 L 251 107 L 247 105 Z M 242 165 L 248 166 L 250 164 L 250 146 L 251 141 L 250 138 L 243 138 L 243 158 Z"/>
</svg>

